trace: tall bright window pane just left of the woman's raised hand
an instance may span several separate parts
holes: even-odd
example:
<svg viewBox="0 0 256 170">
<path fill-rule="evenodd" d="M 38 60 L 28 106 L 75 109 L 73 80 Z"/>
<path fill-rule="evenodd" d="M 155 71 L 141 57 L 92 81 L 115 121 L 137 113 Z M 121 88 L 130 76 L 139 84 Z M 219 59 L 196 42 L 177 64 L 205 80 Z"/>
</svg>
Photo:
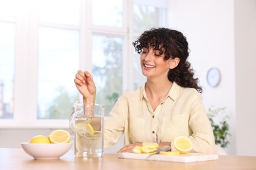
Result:
<svg viewBox="0 0 256 170">
<path fill-rule="evenodd" d="M 78 62 L 79 31 L 39 27 L 37 118 L 69 118 Z"/>
</svg>

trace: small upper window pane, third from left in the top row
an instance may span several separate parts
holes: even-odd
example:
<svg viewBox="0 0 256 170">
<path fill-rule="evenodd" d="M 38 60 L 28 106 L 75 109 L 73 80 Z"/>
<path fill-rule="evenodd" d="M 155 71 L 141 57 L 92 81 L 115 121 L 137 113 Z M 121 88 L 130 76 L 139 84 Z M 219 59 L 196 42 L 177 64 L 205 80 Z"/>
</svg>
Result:
<svg viewBox="0 0 256 170">
<path fill-rule="evenodd" d="M 123 27 L 123 1 L 93 0 L 93 24 Z"/>
</svg>

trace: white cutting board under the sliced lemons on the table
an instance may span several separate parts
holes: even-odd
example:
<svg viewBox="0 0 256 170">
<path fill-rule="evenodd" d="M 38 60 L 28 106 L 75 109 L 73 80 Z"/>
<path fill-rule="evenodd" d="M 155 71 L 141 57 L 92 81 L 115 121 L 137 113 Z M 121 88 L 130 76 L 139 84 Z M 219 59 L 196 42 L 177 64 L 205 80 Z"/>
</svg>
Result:
<svg viewBox="0 0 256 170">
<path fill-rule="evenodd" d="M 218 160 L 217 154 L 200 154 L 200 153 L 187 153 L 178 155 L 160 155 L 160 154 L 134 154 L 123 152 L 118 154 L 118 158 L 135 159 L 135 160 L 152 160 L 152 161 L 175 161 L 175 162 L 197 162 Z"/>
</svg>

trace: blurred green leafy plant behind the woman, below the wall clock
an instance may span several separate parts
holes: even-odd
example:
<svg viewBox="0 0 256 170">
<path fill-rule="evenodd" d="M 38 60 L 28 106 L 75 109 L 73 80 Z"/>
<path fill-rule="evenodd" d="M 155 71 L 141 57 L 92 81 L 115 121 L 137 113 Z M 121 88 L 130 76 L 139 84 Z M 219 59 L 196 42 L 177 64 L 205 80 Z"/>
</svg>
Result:
<svg viewBox="0 0 256 170">
<path fill-rule="evenodd" d="M 226 148 L 229 144 L 228 136 L 230 136 L 226 107 L 209 107 L 207 115 L 213 127 L 215 144 Z"/>
</svg>

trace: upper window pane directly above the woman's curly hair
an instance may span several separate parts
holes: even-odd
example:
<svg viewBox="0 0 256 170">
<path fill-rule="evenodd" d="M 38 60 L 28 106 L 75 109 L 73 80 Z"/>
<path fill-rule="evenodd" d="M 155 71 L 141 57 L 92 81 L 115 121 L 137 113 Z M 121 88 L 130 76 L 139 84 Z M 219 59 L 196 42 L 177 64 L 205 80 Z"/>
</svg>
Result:
<svg viewBox="0 0 256 170">
<path fill-rule="evenodd" d="M 165 27 L 166 23 L 165 9 L 146 5 L 133 5 L 133 17 L 133 29 L 137 33 L 152 27 Z"/>
</svg>

